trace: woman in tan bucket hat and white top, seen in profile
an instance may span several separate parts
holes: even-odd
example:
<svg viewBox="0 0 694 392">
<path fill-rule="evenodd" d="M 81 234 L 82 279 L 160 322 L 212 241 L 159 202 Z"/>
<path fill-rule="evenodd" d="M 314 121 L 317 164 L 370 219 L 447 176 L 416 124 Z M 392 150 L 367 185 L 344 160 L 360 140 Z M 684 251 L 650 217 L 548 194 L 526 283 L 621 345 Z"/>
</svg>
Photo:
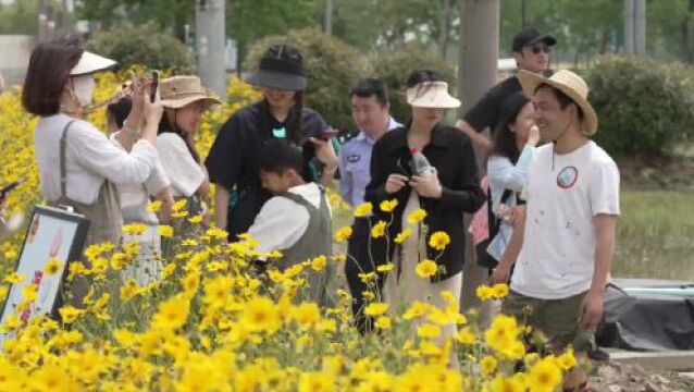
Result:
<svg viewBox="0 0 694 392">
<path fill-rule="evenodd" d="M 191 215 L 203 213 L 201 197 L 210 192 L 210 181 L 195 148 L 195 133 L 202 113 L 220 103 L 210 97 L 197 76 L 173 76 L 159 85 L 164 115 L 159 124 L 157 150 L 174 197 L 188 198 Z"/>
</svg>

